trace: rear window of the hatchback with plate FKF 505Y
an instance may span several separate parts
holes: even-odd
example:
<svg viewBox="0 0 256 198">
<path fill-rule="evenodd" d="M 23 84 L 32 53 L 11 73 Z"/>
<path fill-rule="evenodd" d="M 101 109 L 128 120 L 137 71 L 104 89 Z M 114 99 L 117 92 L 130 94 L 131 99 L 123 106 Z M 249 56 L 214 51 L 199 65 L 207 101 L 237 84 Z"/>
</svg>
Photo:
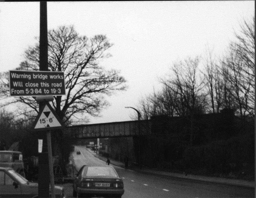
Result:
<svg viewBox="0 0 256 198">
<path fill-rule="evenodd" d="M 118 177 L 112 167 L 88 167 L 86 177 Z"/>
</svg>

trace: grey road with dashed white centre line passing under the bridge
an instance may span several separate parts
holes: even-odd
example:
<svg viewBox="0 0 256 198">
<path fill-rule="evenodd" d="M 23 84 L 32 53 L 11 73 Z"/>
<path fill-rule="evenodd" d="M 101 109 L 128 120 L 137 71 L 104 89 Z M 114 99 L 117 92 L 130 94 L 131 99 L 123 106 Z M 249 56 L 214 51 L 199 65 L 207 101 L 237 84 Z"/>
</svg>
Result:
<svg viewBox="0 0 256 198">
<path fill-rule="evenodd" d="M 81 151 L 81 155 L 76 154 L 78 150 Z M 73 159 L 78 170 L 84 164 L 106 164 L 82 146 L 75 146 Z M 119 176 L 123 178 L 125 191 L 122 198 L 255 197 L 254 188 L 151 175 L 117 166 L 114 166 L 114 168 Z M 72 187 L 72 184 L 68 188 L 70 186 Z M 72 194 L 67 194 L 67 197 L 72 197 Z"/>
</svg>

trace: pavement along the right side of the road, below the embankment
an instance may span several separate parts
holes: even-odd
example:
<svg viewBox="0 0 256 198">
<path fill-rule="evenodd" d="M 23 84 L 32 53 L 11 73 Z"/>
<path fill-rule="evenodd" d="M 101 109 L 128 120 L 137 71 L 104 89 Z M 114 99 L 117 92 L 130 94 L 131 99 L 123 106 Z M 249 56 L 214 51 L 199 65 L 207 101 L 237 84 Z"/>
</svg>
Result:
<svg viewBox="0 0 256 198">
<path fill-rule="evenodd" d="M 87 150 L 91 152 L 95 157 L 100 158 L 101 160 L 105 161 L 107 160 L 106 157 L 102 157 L 97 155 L 94 151 L 91 149 Z M 119 166 L 121 168 L 124 168 L 124 163 L 115 161 L 113 159 L 110 159 L 110 165 Z M 243 187 L 249 187 L 249 188 L 255 188 L 255 181 L 249 181 L 249 180 L 241 180 L 241 179 L 229 179 L 229 178 L 221 178 L 221 177 L 208 177 L 208 176 L 200 176 L 200 175 L 190 175 L 190 174 L 180 174 L 180 173 L 174 173 L 174 172 L 165 172 L 165 171 L 157 171 L 152 170 L 147 167 L 142 167 L 140 169 L 139 167 L 128 167 L 128 169 L 133 171 L 140 171 L 155 175 L 163 175 L 168 177 L 175 177 L 175 178 L 182 178 L 182 179 L 191 179 L 191 180 L 197 180 L 197 181 L 206 181 L 206 182 L 213 182 L 213 183 L 220 183 L 220 184 L 228 184 L 228 185 L 237 185 L 237 186 L 243 186 Z"/>
</svg>

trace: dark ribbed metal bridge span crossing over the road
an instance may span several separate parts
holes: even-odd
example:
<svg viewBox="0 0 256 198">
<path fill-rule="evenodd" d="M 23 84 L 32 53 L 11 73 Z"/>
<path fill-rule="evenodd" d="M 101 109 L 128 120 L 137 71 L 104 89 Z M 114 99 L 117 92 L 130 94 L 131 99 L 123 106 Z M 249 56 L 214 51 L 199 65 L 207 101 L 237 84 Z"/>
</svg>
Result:
<svg viewBox="0 0 256 198">
<path fill-rule="evenodd" d="M 66 127 L 63 132 L 71 139 L 114 138 L 148 135 L 151 134 L 151 120 L 76 125 Z"/>
</svg>

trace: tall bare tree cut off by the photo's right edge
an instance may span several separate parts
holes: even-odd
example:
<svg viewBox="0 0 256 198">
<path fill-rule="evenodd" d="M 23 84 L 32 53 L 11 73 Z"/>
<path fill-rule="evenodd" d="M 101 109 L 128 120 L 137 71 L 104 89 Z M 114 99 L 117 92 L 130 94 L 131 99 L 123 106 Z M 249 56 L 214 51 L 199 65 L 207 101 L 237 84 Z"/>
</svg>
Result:
<svg viewBox="0 0 256 198">
<path fill-rule="evenodd" d="M 255 17 L 240 24 L 236 41 L 231 42 L 229 52 L 223 58 L 223 74 L 230 86 L 230 94 L 238 105 L 238 114 L 254 115 L 255 105 Z"/>
</svg>

